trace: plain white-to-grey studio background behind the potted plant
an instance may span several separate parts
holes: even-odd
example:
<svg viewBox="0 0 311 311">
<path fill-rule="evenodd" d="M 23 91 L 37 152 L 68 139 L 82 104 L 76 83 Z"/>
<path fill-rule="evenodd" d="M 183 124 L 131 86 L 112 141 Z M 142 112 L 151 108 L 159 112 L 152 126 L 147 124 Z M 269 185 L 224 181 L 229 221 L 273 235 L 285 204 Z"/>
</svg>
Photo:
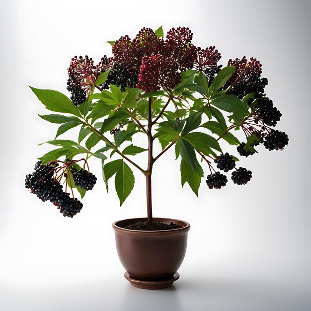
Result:
<svg viewBox="0 0 311 311">
<path fill-rule="evenodd" d="M 310 310 L 310 9 L 309 1 L 1 0 L 0 310 Z M 146 291 L 123 278 L 111 228 L 146 216 L 144 176 L 135 171 L 120 208 L 113 180 L 107 194 L 100 160 L 91 160 L 99 181 L 73 219 L 28 194 L 25 175 L 50 150 L 38 144 L 57 130 L 37 116 L 49 112 L 28 85 L 68 94 L 71 57 L 97 62 L 111 54 L 105 41 L 161 24 L 189 26 L 193 43 L 216 45 L 224 65 L 257 57 L 290 144 L 243 158 L 253 172 L 246 186 L 212 191 L 202 180 L 199 199 L 181 188 L 173 150 L 156 162 L 154 215 L 191 230 L 180 280 Z"/>
</svg>

